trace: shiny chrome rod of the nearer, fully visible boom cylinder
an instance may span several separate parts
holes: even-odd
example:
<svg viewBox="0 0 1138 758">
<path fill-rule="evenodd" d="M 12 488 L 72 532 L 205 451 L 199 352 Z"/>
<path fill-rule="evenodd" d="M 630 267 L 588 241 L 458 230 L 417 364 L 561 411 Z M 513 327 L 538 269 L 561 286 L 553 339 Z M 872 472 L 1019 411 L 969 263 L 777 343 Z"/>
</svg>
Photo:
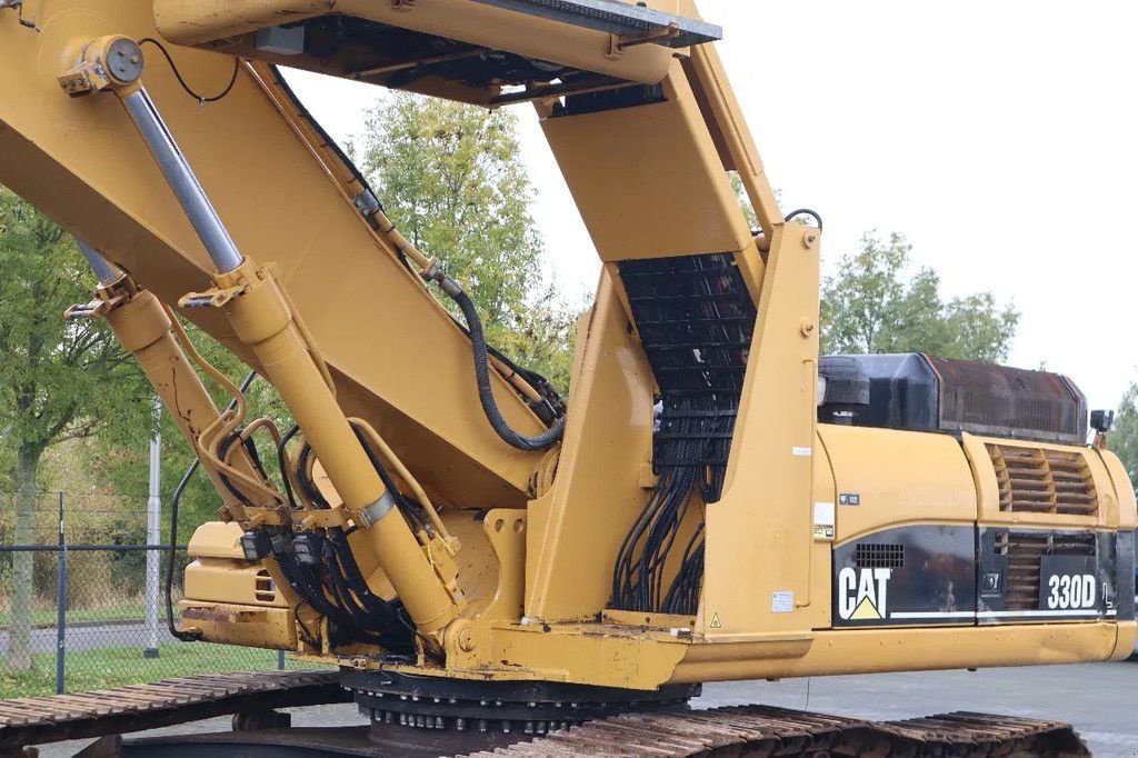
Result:
<svg viewBox="0 0 1138 758">
<path fill-rule="evenodd" d="M 241 265 L 241 254 L 229 236 L 229 230 L 221 222 L 217 211 L 201 189 L 198 178 L 190 168 L 174 137 L 158 114 L 154 100 L 147 94 L 146 88 L 139 88 L 123 97 L 123 105 L 138 126 L 147 147 L 158 162 L 163 175 L 170 183 L 178 201 L 193 225 L 193 230 L 205 245 L 206 252 L 213 258 L 218 273 L 229 273 Z"/>
</svg>

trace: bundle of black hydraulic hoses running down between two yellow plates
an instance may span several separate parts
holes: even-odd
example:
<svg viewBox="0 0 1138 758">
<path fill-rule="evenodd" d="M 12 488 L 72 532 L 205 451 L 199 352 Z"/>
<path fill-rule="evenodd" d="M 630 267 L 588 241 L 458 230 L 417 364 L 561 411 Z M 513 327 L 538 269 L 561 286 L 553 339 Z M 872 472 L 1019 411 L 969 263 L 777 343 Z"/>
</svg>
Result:
<svg viewBox="0 0 1138 758">
<path fill-rule="evenodd" d="M 723 495 L 756 310 L 732 254 L 622 261 L 641 343 L 660 388 L 652 464 L 660 479 L 620 549 L 612 605 L 694 613 L 703 582 L 703 524 L 677 537 L 692 493 Z M 683 545 L 670 588 L 668 553 Z M 666 590 L 666 592 L 665 592 Z"/>
</svg>

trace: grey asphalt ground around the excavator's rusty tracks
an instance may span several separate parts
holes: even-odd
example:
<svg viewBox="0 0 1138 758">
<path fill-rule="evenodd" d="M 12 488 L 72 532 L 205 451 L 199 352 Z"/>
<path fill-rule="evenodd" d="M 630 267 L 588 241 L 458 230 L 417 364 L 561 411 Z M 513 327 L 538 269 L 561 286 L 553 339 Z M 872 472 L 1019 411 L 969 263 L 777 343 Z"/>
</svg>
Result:
<svg viewBox="0 0 1138 758">
<path fill-rule="evenodd" d="M 695 708 L 766 703 L 873 719 L 931 716 L 953 710 L 988 711 L 1065 720 L 1095 756 L 1138 756 L 1138 662 L 832 676 L 782 682 L 708 684 Z M 295 726 L 361 725 L 351 705 L 296 709 Z M 221 732 L 212 719 L 148 735 Z M 43 758 L 73 756 L 85 743 L 46 747 Z"/>
</svg>

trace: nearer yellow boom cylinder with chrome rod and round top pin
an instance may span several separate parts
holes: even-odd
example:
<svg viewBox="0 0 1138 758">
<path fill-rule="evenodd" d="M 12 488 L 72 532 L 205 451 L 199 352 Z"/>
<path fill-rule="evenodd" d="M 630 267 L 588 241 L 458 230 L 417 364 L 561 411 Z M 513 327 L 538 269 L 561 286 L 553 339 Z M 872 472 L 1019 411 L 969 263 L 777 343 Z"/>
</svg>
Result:
<svg viewBox="0 0 1138 758">
<path fill-rule="evenodd" d="M 280 393 L 351 518 L 366 528 L 373 559 L 412 620 L 422 633 L 440 641 L 442 629 L 459 615 L 461 592 L 456 585 L 444 585 L 395 506 L 393 494 L 340 410 L 328 369 L 283 286 L 270 267 L 257 266 L 238 250 L 142 85 L 142 69 L 137 42 L 106 36 L 85 46 L 79 65 L 60 76 L 60 84 L 73 97 L 109 90 L 122 101 L 217 269 L 214 288 L 187 295 L 181 305 L 223 311 Z"/>
</svg>

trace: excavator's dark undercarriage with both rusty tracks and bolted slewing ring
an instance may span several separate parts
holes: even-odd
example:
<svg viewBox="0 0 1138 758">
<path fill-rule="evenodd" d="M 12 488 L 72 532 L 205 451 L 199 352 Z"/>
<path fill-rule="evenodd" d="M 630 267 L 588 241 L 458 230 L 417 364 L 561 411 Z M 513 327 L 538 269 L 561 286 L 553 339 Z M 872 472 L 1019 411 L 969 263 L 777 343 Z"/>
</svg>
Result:
<svg viewBox="0 0 1138 758">
<path fill-rule="evenodd" d="M 655 693 L 560 684 L 437 682 L 288 672 L 172 679 L 0 705 L 0 756 L 99 738 L 77 753 L 307 756 L 1089 756 L 1066 724 L 954 712 L 902 722 L 743 706 L 694 710 L 698 686 Z M 291 728 L 275 708 L 356 699 L 371 726 Z M 601 698 L 604 698 L 603 700 Z M 233 715 L 224 733 L 124 740 L 123 733 Z"/>
</svg>

